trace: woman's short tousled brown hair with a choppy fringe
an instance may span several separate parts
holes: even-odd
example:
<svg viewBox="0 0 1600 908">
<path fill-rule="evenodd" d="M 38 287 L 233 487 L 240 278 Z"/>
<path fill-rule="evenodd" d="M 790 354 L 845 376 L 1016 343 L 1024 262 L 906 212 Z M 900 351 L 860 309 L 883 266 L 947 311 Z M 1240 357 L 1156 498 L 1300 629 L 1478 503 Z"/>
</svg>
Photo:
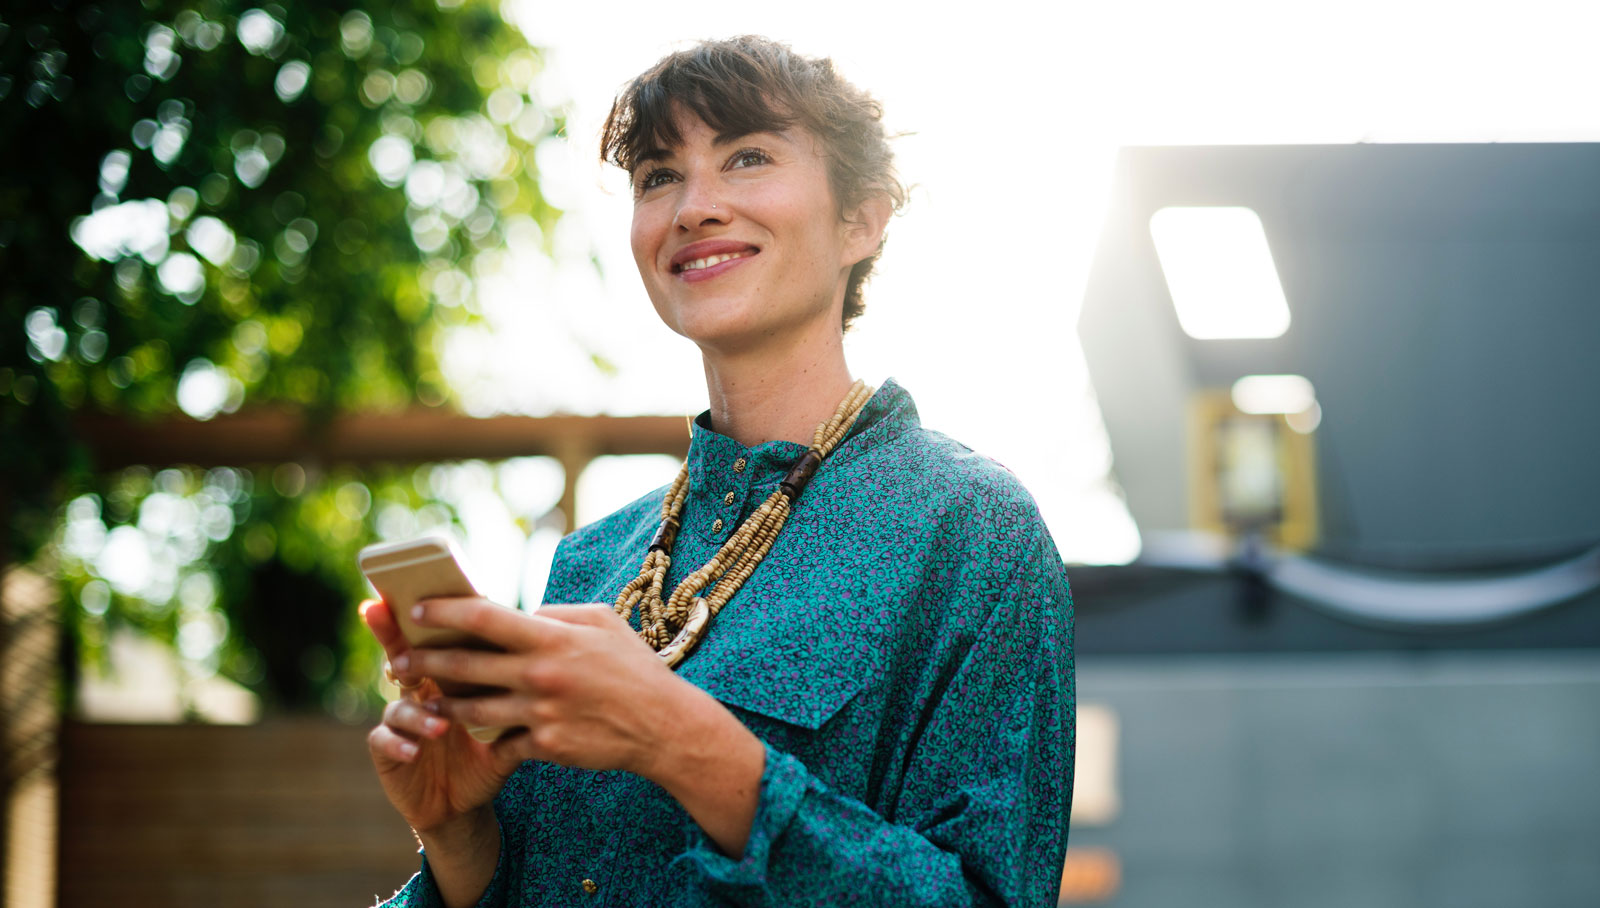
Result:
<svg viewBox="0 0 1600 908">
<path fill-rule="evenodd" d="M 634 173 L 640 155 L 682 144 L 674 115 L 682 106 L 717 134 L 774 133 L 805 126 L 822 142 L 829 184 L 840 213 L 883 193 L 894 211 L 906 187 L 883 133 L 883 106 L 834 70 L 827 58 L 806 58 L 758 35 L 702 42 L 662 58 L 630 82 L 611 104 L 600 133 L 600 160 Z M 883 245 L 850 269 L 843 328 L 861 315 L 861 288 Z"/>
</svg>

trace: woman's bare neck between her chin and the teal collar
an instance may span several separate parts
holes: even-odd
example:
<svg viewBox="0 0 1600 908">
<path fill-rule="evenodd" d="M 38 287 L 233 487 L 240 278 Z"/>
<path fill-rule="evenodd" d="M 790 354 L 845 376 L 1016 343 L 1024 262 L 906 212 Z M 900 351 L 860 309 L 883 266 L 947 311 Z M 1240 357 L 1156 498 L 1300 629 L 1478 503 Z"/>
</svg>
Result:
<svg viewBox="0 0 1600 908">
<path fill-rule="evenodd" d="M 834 416 L 853 380 L 837 326 L 782 350 L 702 352 L 702 358 L 712 425 L 746 448 L 811 444 L 818 424 Z"/>
</svg>

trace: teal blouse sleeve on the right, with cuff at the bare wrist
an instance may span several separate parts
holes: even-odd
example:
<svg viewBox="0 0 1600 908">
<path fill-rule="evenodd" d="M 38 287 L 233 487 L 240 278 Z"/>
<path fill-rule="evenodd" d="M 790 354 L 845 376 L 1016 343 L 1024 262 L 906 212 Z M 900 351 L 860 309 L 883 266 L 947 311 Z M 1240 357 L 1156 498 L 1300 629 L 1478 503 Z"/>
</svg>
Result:
<svg viewBox="0 0 1600 908">
<path fill-rule="evenodd" d="M 1072 598 L 1048 534 L 931 705 L 898 822 L 766 748 L 742 860 L 688 823 L 688 860 L 734 905 L 1053 906 L 1072 807 Z"/>
</svg>

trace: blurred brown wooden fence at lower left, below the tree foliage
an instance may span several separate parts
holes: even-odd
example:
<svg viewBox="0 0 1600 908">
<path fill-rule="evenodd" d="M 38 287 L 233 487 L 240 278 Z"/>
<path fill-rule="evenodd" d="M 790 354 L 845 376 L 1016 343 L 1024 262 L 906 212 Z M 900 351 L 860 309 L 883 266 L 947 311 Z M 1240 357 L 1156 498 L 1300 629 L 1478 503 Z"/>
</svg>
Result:
<svg viewBox="0 0 1600 908">
<path fill-rule="evenodd" d="M 61 732 L 62 908 L 360 908 L 416 871 L 366 729 L 101 726 Z"/>
</svg>

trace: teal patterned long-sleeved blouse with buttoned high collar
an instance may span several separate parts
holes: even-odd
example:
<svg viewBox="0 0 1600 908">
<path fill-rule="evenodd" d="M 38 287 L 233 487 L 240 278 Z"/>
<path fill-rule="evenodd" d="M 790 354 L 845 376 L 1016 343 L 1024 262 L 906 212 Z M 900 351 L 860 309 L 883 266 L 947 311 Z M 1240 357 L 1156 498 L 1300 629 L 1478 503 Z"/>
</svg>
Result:
<svg viewBox="0 0 1600 908">
<path fill-rule="evenodd" d="M 694 422 L 669 590 L 803 451 Z M 613 601 L 664 491 L 568 536 L 546 601 Z M 893 380 L 678 671 L 766 743 L 744 858 L 646 779 L 530 761 L 494 801 L 482 905 L 1056 903 L 1075 724 L 1066 571 L 1018 480 L 922 428 Z M 426 855 L 389 905 L 440 905 Z"/>
</svg>

